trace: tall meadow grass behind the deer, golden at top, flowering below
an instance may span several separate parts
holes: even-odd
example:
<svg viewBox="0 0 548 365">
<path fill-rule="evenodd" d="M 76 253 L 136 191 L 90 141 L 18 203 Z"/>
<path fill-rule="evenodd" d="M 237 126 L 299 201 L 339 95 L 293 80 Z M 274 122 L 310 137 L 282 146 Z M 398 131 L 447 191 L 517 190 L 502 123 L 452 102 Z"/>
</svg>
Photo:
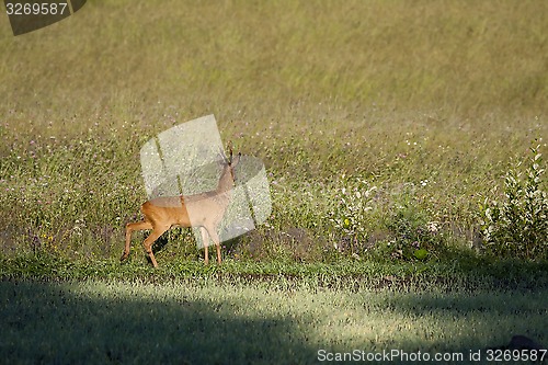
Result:
<svg viewBox="0 0 548 365">
<path fill-rule="evenodd" d="M 231 258 L 329 262 L 357 180 L 377 187 L 359 258 L 469 246 L 479 195 L 546 147 L 546 7 L 90 1 L 23 36 L 2 23 L 2 252 L 116 258 L 146 198 L 140 146 L 210 113 L 272 182 L 273 216 Z"/>
</svg>

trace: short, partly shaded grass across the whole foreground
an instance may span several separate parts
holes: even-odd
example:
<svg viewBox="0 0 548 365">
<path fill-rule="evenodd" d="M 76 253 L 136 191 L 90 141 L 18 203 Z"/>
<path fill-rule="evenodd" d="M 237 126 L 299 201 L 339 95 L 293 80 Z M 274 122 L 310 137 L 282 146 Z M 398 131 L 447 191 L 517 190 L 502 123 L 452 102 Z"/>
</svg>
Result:
<svg viewBox="0 0 548 365">
<path fill-rule="evenodd" d="M 321 349 L 432 356 L 481 350 L 487 356 L 487 347 L 507 344 L 515 333 L 547 340 L 546 289 L 470 295 L 282 287 L 4 281 L 0 351 L 18 363 L 75 363 L 85 354 L 90 364 L 311 364 Z"/>
</svg>

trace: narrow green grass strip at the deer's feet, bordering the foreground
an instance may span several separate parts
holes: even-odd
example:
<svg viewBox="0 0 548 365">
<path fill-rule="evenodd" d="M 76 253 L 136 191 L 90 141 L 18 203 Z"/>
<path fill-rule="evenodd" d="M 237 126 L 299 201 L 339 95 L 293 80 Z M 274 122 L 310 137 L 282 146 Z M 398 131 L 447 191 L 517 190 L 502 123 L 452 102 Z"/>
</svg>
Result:
<svg viewBox="0 0 548 365">
<path fill-rule="evenodd" d="M 237 261 L 227 259 L 221 265 L 171 260 L 158 269 L 146 260 L 68 260 L 55 255 L 2 258 L 0 276 L 13 280 L 119 280 L 171 282 L 173 280 L 209 278 L 231 283 L 285 278 L 310 282 L 326 287 L 355 286 L 364 289 L 407 286 L 424 289 L 431 285 L 450 288 L 475 287 L 544 288 L 548 286 L 546 262 L 493 260 L 470 255 L 453 256 L 439 262 L 357 261 L 333 263 L 296 263 L 283 261 Z"/>
</svg>

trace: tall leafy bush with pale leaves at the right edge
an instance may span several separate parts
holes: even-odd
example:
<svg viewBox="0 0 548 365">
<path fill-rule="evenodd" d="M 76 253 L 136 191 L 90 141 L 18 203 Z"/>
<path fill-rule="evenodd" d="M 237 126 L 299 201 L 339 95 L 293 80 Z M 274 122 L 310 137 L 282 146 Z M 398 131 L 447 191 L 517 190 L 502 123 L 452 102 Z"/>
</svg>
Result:
<svg viewBox="0 0 548 365">
<path fill-rule="evenodd" d="M 533 157 L 525 169 L 518 161 L 507 171 L 499 199 L 486 198 L 481 204 L 481 232 L 488 251 L 495 255 L 548 258 L 548 195 L 539 149 L 540 145 L 530 148 Z"/>
</svg>

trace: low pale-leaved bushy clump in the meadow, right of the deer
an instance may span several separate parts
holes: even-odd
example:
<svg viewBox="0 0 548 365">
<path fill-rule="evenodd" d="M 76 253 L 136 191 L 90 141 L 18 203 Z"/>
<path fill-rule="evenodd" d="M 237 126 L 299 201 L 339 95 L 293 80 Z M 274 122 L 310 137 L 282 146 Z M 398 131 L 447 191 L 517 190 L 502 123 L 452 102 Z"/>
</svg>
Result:
<svg viewBox="0 0 548 365">
<path fill-rule="evenodd" d="M 439 223 L 421 206 L 413 183 L 387 189 L 343 175 L 334 206 L 328 214 L 335 249 L 341 253 L 397 260 L 422 261 L 436 258 L 443 248 Z"/>
</svg>

